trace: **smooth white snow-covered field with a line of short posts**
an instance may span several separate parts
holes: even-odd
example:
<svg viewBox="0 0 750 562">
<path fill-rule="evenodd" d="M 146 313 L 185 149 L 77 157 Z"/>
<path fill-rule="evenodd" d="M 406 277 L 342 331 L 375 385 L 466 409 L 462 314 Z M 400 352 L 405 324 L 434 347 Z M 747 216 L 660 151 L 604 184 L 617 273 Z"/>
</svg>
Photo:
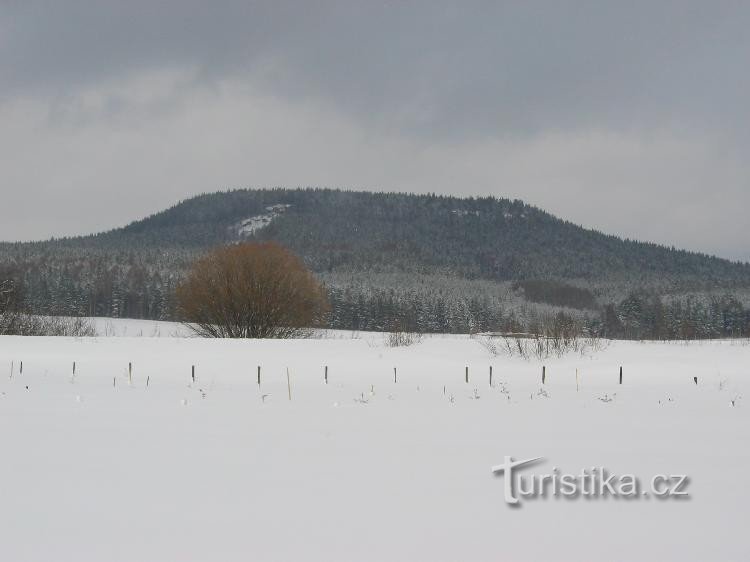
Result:
<svg viewBox="0 0 750 562">
<path fill-rule="evenodd" d="M 466 336 L 103 324 L 120 337 L 0 338 L 0 560 L 750 559 L 747 341 L 527 361 Z M 689 497 L 514 508 L 507 455 L 685 474 Z"/>
</svg>

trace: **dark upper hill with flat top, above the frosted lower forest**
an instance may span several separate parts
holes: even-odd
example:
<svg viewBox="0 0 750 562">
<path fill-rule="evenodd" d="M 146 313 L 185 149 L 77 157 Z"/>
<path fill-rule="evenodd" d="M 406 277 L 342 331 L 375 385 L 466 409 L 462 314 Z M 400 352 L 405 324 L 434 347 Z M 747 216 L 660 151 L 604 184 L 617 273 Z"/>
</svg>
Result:
<svg viewBox="0 0 750 562">
<path fill-rule="evenodd" d="M 278 208 L 276 211 L 271 208 Z M 243 221 L 257 221 L 243 229 Z M 264 222 L 265 220 L 265 222 Z M 488 280 L 660 280 L 750 285 L 750 265 L 627 241 L 521 201 L 329 189 L 201 195 L 125 228 L 31 245 L 115 251 L 273 239 L 316 271 L 440 272 Z M 9 248 L 6 247 L 6 250 Z"/>
</svg>

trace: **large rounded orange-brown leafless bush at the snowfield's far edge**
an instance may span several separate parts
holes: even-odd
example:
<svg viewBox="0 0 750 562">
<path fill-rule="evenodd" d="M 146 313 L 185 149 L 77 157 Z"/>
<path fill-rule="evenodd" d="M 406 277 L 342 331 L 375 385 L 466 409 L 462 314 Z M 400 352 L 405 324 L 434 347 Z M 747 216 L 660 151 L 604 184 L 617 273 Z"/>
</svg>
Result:
<svg viewBox="0 0 750 562">
<path fill-rule="evenodd" d="M 214 338 L 294 337 L 328 308 L 313 274 L 275 242 L 214 250 L 195 262 L 176 297 L 182 319 Z"/>
</svg>

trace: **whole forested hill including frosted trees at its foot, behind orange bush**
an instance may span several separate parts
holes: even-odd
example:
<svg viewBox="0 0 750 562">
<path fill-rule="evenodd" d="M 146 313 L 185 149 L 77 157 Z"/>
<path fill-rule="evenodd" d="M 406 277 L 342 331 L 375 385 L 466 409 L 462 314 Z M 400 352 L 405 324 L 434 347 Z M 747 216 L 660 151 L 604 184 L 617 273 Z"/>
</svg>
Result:
<svg viewBox="0 0 750 562">
<path fill-rule="evenodd" d="M 495 198 L 213 193 L 93 236 L 2 243 L 0 280 L 15 280 L 37 313 L 169 319 L 192 261 L 242 240 L 299 254 L 328 288 L 337 328 L 534 329 L 562 311 L 615 336 L 750 333 L 749 264 L 622 240 Z"/>
</svg>

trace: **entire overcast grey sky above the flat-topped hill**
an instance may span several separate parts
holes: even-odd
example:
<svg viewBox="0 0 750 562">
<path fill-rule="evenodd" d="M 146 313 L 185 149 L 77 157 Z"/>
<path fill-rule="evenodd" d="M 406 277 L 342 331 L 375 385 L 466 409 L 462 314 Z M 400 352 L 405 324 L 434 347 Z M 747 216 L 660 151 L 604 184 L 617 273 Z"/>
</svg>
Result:
<svg viewBox="0 0 750 562">
<path fill-rule="evenodd" d="M 722 1 L 0 0 L 0 240 L 327 186 L 750 261 L 748 29 Z"/>
</svg>

